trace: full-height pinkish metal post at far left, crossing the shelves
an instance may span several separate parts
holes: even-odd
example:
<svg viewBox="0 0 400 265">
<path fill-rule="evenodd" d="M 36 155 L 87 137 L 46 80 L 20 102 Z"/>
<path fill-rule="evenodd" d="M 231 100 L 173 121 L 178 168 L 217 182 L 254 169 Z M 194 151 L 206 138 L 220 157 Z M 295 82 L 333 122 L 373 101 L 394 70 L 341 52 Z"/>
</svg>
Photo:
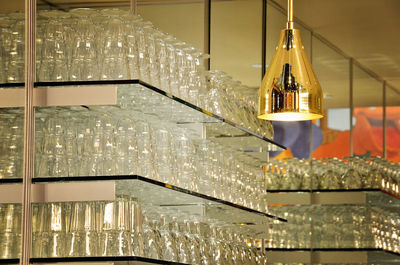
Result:
<svg viewBox="0 0 400 265">
<path fill-rule="evenodd" d="M 32 248 L 31 184 L 34 160 L 33 84 L 36 60 L 36 0 L 25 0 L 25 126 L 20 264 L 28 265 Z"/>
</svg>

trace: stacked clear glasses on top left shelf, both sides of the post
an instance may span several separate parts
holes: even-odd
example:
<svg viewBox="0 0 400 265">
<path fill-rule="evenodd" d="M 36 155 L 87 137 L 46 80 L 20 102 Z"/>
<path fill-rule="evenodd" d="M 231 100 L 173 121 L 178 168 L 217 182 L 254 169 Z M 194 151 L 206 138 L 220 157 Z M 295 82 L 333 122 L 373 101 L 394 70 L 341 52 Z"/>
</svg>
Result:
<svg viewBox="0 0 400 265">
<path fill-rule="evenodd" d="M 23 82 L 24 15 L 0 18 L 0 83 Z M 121 9 L 42 10 L 37 20 L 37 81 L 140 79 L 267 138 L 256 118 L 257 91 L 219 71 L 208 55 Z"/>
</svg>

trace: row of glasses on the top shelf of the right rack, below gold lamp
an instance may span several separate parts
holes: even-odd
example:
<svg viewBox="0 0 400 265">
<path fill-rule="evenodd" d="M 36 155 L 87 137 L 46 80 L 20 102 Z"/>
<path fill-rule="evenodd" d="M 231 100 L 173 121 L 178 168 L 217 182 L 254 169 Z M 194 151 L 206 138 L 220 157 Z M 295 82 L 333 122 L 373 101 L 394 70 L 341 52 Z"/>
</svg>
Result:
<svg viewBox="0 0 400 265">
<path fill-rule="evenodd" d="M 266 171 L 269 190 L 380 189 L 400 194 L 399 164 L 380 157 L 312 159 L 311 163 L 271 159 Z"/>
</svg>

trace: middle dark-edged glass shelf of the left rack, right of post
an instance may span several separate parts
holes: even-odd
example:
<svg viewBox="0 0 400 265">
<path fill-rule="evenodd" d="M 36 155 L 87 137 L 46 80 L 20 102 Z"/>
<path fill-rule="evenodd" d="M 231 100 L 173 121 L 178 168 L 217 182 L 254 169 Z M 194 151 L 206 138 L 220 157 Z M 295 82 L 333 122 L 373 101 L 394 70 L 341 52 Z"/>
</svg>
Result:
<svg viewBox="0 0 400 265">
<path fill-rule="evenodd" d="M 268 220 L 286 222 L 269 213 L 234 204 L 198 192 L 148 179 L 138 175 L 33 178 L 33 183 L 64 183 L 82 181 L 115 181 L 116 195 L 129 195 L 140 199 L 142 207 L 157 206 L 165 211 L 180 210 L 206 218 L 227 222 L 241 229 L 243 234 L 261 236 L 267 233 Z M 155 196 L 156 194 L 156 196 Z"/>
</svg>

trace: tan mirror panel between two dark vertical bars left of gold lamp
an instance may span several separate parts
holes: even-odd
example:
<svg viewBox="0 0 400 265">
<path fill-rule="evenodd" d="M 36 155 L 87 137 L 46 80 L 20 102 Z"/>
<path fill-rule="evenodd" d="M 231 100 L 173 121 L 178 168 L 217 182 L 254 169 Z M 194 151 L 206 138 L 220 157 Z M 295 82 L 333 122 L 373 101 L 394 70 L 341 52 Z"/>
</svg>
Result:
<svg viewBox="0 0 400 265">
<path fill-rule="evenodd" d="M 229 73 L 254 94 L 261 80 L 261 16 L 262 1 L 211 1 L 211 69 Z"/>
</svg>

